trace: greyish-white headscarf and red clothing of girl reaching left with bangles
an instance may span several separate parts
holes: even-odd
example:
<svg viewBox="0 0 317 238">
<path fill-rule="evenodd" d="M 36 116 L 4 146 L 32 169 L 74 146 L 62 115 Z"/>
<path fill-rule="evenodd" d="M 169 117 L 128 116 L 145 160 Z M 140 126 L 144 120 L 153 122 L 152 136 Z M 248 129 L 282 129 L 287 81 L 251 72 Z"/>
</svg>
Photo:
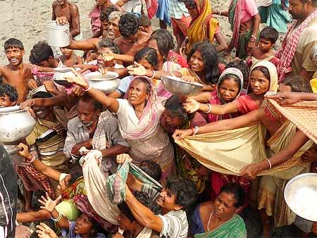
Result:
<svg viewBox="0 0 317 238">
<path fill-rule="evenodd" d="M 240 70 L 238 70 L 237 68 L 227 68 L 223 71 L 223 73 L 221 73 L 219 80 L 218 80 L 218 83 L 217 83 L 216 90 L 211 92 L 211 97 L 209 99 L 209 102 L 211 105 L 222 105 L 222 104 L 228 103 L 227 101 L 222 99 L 222 97 L 219 93 L 220 83 L 223 81 L 223 78 L 228 74 L 235 75 L 240 80 L 240 89 L 239 89 L 239 92 L 237 93 L 237 96 L 235 96 L 235 99 L 237 99 L 237 97 L 240 96 L 240 94 L 242 93 L 242 89 L 243 89 L 243 74 L 242 74 L 242 72 Z M 232 100 L 234 100 L 234 99 L 232 99 Z M 212 122 L 216 122 L 217 120 L 235 118 L 237 116 L 239 116 L 237 113 L 228 113 L 225 115 L 216 115 L 216 114 L 209 113 L 207 115 L 207 118 L 208 118 L 208 122 L 212 123 Z"/>
</svg>

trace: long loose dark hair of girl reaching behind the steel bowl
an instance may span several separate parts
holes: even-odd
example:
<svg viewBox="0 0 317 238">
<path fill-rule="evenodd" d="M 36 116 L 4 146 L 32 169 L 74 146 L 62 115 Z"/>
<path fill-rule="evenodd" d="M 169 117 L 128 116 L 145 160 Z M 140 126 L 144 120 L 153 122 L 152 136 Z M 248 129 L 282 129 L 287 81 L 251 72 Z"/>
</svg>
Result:
<svg viewBox="0 0 317 238">
<path fill-rule="evenodd" d="M 204 73 L 206 77 L 206 83 L 216 84 L 219 77 L 218 56 L 216 49 L 209 42 L 199 42 L 197 44 L 194 44 L 192 50 L 189 51 L 189 54 L 187 56 L 188 63 L 195 51 L 199 51 L 203 58 L 205 65 Z"/>
</svg>

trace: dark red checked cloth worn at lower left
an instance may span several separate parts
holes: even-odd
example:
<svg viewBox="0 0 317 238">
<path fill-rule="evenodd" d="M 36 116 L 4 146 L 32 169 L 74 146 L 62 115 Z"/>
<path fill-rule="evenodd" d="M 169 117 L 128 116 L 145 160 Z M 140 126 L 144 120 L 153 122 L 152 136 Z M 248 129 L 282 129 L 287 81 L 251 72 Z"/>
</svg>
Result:
<svg viewBox="0 0 317 238">
<path fill-rule="evenodd" d="M 33 165 L 19 166 L 13 163 L 15 172 L 18 174 L 27 191 L 42 190 L 49 194 L 51 199 L 56 198 L 49 178 L 39 172 Z"/>
</svg>

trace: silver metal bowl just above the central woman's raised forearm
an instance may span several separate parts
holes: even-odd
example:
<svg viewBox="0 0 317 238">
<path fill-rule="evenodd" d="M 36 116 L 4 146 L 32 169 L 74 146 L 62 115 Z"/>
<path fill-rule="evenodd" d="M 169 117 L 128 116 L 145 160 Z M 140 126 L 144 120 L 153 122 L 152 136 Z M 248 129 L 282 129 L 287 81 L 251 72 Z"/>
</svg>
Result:
<svg viewBox="0 0 317 238">
<path fill-rule="evenodd" d="M 119 86 L 118 73 L 108 71 L 106 75 L 101 75 L 99 72 L 87 73 L 85 78 L 88 83 L 94 88 L 99 89 L 105 94 L 110 94 Z"/>
</svg>

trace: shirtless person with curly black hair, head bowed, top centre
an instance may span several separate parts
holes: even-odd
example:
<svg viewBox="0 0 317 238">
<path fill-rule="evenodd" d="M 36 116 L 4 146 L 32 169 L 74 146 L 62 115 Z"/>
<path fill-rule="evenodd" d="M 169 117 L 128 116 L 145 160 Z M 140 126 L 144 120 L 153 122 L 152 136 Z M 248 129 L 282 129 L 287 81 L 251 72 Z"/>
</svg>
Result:
<svg viewBox="0 0 317 238">
<path fill-rule="evenodd" d="M 139 27 L 139 19 L 135 14 L 127 13 L 120 18 L 119 31 L 121 37 L 114 39 L 121 54 L 135 56 L 135 53 L 147 46 L 151 35 Z"/>
</svg>

